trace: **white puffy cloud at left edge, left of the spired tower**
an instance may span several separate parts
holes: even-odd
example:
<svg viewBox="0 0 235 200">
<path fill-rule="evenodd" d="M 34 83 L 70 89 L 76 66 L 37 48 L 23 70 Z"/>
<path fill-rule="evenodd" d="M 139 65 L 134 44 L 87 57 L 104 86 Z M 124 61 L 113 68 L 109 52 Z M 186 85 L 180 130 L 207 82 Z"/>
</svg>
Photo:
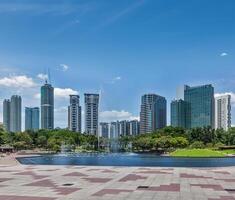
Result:
<svg viewBox="0 0 235 200">
<path fill-rule="evenodd" d="M 37 86 L 32 78 L 26 75 L 9 76 L 0 78 L 0 86 L 12 88 L 31 88 Z"/>
</svg>

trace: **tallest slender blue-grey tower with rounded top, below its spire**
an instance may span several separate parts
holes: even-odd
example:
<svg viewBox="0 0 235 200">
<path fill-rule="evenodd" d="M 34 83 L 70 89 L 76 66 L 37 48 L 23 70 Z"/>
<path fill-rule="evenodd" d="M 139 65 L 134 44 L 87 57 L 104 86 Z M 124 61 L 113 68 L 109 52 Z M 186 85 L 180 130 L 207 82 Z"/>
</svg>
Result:
<svg viewBox="0 0 235 200">
<path fill-rule="evenodd" d="M 47 82 L 41 87 L 41 128 L 54 129 L 54 88 Z"/>
</svg>

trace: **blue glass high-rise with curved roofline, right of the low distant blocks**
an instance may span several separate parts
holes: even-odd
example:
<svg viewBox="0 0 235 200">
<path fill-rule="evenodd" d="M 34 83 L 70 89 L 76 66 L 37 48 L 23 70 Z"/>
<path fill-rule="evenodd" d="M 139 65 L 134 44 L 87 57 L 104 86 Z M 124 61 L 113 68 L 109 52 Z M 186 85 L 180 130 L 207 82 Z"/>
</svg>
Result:
<svg viewBox="0 0 235 200">
<path fill-rule="evenodd" d="M 166 99 L 156 94 L 141 98 L 140 133 L 151 133 L 166 126 Z"/>
</svg>

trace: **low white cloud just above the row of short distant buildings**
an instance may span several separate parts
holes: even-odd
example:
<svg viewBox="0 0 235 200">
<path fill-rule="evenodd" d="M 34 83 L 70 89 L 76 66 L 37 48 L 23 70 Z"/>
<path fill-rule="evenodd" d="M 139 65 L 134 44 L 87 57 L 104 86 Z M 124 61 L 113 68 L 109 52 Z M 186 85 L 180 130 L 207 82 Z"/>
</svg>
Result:
<svg viewBox="0 0 235 200">
<path fill-rule="evenodd" d="M 100 121 L 111 122 L 117 120 L 134 120 L 139 119 L 139 117 L 133 116 L 132 113 L 121 110 L 111 110 L 100 112 Z"/>
</svg>

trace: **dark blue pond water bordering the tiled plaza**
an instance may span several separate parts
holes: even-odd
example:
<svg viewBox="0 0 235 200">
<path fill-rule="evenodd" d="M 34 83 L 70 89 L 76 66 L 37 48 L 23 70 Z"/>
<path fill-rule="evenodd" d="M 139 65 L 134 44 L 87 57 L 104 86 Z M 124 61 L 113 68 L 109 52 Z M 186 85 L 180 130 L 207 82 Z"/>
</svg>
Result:
<svg viewBox="0 0 235 200">
<path fill-rule="evenodd" d="M 25 165 L 89 165 L 143 167 L 225 167 L 235 166 L 235 158 L 177 158 L 156 154 L 79 153 L 17 158 Z"/>
</svg>

